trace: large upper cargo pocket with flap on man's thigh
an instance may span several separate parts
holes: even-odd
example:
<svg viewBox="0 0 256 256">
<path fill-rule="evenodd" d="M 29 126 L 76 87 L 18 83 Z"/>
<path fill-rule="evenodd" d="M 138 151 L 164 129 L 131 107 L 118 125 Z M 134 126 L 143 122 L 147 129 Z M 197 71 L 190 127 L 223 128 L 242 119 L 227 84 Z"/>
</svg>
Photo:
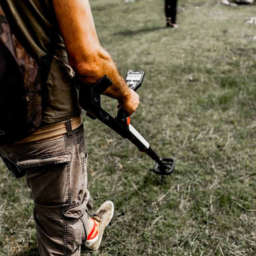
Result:
<svg viewBox="0 0 256 256">
<path fill-rule="evenodd" d="M 31 198 L 35 203 L 62 205 L 72 202 L 71 159 L 71 151 L 67 148 L 18 158 L 17 165 L 27 170 L 27 184 L 31 188 Z"/>
</svg>

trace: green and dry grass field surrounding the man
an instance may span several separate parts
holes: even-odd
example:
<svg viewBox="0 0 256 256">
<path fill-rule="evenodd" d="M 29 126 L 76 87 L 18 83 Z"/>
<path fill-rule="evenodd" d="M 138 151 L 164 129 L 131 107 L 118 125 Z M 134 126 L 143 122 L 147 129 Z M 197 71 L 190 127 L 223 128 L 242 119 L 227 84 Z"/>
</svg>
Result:
<svg viewBox="0 0 256 256">
<path fill-rule="evenodd" d="M 146 71 L 133 126 L 177 160 L 172 176 L 157 176 L 131 143 L 84 119 L 95 209 L 116 207 L 92 255 L 256 255 L 256 25 L 245 23 L 256 5 L 179 5 L 178 29 L 165 29 L 163 1 L 91 1 L 121 73 Z M 25 179 L 1 163 L 0 175 L 0 255 L 38 255 Z"/>
</svg>

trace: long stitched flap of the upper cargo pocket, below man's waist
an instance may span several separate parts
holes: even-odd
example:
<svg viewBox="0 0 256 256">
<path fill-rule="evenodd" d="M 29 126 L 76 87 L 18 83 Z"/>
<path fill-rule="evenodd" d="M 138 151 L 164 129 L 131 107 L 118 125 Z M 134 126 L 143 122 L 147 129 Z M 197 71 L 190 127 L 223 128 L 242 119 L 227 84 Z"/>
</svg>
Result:
<svg viewBox="0 0 256 256">
<path fill-rule="evenodd" d="M 22 168 L 30 168 L 35 166 L 44 166 L 49 164 L 57 164 L 57 163 L 66 163 L 70 162 L 71 154 L 67 152 L 65 155 L 55 155 L 53 157 L 44 157 L 38 159 L 26 159 L 26 160 L 18 160 L 17 165 Z"/>
</svg>

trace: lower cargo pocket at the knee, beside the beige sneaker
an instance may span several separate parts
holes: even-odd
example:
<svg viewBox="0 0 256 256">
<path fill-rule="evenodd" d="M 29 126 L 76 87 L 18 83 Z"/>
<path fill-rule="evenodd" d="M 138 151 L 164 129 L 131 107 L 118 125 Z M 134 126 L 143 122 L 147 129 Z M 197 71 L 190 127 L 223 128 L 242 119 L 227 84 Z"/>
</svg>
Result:
<svg viewBox="0 0 256 256">
<path fill-rule="evenodd" d="M 74 252 L 87 240 L 88 218 L 87 200 L 73 203 L 62 210 L 64 221 L 65 255 Z"/>
</svg>

